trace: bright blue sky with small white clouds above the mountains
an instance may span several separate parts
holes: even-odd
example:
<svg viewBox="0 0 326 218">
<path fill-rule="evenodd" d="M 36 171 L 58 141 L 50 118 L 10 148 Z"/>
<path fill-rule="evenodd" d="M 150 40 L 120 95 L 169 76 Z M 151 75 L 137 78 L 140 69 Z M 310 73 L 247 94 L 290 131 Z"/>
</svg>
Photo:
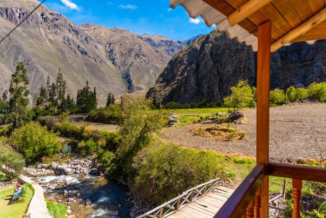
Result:
<svg viewBox="0 0 326 218">
<path fill-rule="evenodd" d="M 189 18 L 181 6 L 171 9 L 169 0 L 47 0 L 45 6 L 65 15 L 77 25 L 90 22 L 121 27 L 137 34 L 157 34 L 185 40 L 214 28 L 201 18 Z"/>
</svg>

